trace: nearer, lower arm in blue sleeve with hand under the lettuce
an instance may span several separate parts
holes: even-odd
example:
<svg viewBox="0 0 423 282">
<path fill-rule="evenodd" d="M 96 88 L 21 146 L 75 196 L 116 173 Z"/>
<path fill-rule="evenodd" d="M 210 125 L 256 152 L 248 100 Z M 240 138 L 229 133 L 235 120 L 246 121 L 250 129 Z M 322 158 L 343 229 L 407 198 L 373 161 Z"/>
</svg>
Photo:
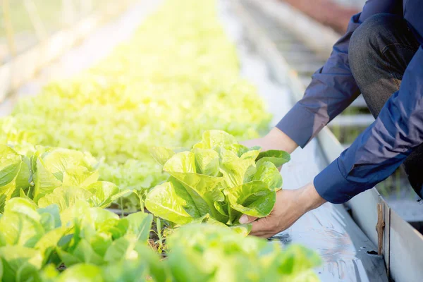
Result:
<svg viewBox="0 0 423 282">
<path fill-rule="evenodd" d="M 252 224 L 251 234 L 268 238 L 324 202 L 346 202 L 390 176 L 423 143 L 422 78 L 420 47 L 405 70 L 400 90 L 388 99 L 376 121 L 314 178 L 314 184 L 279 191 L 274 210 Z M 254 220 L 247 217 L 240 222 Z"/>
</svg>

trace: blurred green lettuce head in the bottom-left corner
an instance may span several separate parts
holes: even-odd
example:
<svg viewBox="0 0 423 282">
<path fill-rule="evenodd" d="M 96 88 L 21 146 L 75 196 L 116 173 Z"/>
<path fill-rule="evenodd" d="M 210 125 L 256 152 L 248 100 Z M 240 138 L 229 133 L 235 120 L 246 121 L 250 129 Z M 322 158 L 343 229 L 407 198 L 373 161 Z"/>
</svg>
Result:
<svg viewBox="0 0 423 282">
<path fill-rule="evenodd" d="M 2 281 L 29 281 L 51 261 L 56 244 L 67 232 L 57 206 L 39 209 L 25 198 L 8 200 L 0 217 Z"/>
</svg>

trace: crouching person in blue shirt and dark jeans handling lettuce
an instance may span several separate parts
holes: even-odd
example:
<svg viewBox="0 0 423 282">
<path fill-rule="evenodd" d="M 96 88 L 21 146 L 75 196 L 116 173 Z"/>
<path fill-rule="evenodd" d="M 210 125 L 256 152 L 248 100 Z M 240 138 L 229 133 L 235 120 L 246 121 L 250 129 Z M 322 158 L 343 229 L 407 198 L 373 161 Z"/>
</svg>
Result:
<svg viewBox="0 0 423 282">
<path fill-rule="evenodd" d="M 324 202 L 343 203 L 404 164 L 423 195 L 423 1 L 368 0 L 313 75 L 305 96 L 276 128 L 246 145 L 293 152 L 304 147 L 362 93 L 376 118 L 353 145 L 297 190 L 278 192 L 273 212 L 253 222 L 269 238 Z"/>
</svg>

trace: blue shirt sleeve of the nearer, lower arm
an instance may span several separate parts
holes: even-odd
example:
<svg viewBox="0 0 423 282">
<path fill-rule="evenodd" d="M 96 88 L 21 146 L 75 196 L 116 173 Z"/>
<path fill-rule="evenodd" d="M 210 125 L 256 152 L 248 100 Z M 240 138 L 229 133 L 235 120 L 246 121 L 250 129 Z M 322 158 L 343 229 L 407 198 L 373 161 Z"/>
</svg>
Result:
<svg viewBox="0 0 423 282">
<path fill-rule="evenodd" d="M 319 195 L 343 203 L 374 187 L 423 143 L 423 47 L 410 61 L 400 90 L 353 145 L 314 178 Z"/>
</svg>

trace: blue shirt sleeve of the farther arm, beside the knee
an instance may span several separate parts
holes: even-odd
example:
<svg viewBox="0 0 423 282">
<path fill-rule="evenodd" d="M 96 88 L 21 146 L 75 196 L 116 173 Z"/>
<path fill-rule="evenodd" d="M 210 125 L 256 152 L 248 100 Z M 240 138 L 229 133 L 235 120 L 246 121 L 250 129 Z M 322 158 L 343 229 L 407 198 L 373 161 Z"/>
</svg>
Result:
<svg viewBox="0 0 423 282">
<path fill-rule="evenodd" d="M 348 30 L 333 45 L 328 61 L 312 76 L 304 97 L 276 125 L 300 147 L 340 114 L 360 94 L 348 63 L 348 45 L 354 30 L 376 13 L 402 13 L 400 0 L 368 0 L 353 16 Z"/>
</svg>

